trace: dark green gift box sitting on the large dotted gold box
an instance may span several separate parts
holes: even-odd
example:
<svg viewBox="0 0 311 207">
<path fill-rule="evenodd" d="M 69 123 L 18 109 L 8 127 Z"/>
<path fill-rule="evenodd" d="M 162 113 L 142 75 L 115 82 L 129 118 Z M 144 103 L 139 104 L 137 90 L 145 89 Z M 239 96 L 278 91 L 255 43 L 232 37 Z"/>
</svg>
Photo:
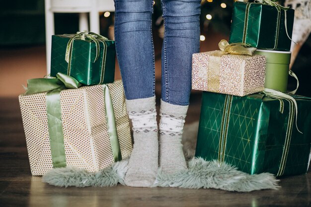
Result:
<svg viewBox="0 0 311 207">
<path fill-rule="evenodd" d="M 76 78 L 84 85 L 112 83 L 116 55 L 114 41 L 98 41 L 96 45 L 93 38 L 80 36 L 81 38 L 72 41 L 71 47 L 67 50 L 68 42 L 75 36 L 52 36 L 51 76 L 56 77 L 56 74 L 61 72 Z M 65 60 L 66 53 L 69 63 Z"/>
</svg>

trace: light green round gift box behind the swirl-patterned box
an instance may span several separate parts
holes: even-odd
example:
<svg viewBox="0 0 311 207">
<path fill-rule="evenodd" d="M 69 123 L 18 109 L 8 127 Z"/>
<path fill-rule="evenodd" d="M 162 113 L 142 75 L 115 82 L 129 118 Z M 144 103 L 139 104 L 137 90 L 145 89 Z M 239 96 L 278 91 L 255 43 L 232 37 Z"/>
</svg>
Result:
<svg viewBox="0 0 311 207">
<path fill-rule="evenodd" d="M 255 54 L 266 57 L 265 88 L 286 92 L 291 52 L 256 50 Z"/>
</svg>

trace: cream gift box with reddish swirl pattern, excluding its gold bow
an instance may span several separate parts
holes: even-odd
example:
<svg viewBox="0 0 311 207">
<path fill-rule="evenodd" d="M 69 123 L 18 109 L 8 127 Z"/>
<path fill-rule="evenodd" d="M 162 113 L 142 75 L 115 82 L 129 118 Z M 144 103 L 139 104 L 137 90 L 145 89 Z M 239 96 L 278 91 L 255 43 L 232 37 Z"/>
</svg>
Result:
<svg viewBox="0 0 311 207">
<path fill-rule="evenodd" d="M 264 90 L 266 59 L 226 55 L 220 50 L 192 55 L 192 89 L 245 96 Z"/>
</svg>

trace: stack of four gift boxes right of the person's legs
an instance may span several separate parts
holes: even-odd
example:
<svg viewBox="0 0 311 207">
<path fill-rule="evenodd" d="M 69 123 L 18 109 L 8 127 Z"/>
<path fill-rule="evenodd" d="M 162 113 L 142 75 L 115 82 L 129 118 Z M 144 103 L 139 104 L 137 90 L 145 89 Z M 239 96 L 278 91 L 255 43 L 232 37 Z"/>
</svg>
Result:
<svg viewBox="0 0 311 207">
<path fill-rule="evenodd" d="M 249 174 L 304 174 L 311 98 L 285 94 L 294 10 L 272 3 L 235 2 L 232 44 L 193 54 L 192 88 L 203 91 L 195 156 Z M 257 50 L 237 55 L 245 54 L 237 45 Z"/>
</svg>

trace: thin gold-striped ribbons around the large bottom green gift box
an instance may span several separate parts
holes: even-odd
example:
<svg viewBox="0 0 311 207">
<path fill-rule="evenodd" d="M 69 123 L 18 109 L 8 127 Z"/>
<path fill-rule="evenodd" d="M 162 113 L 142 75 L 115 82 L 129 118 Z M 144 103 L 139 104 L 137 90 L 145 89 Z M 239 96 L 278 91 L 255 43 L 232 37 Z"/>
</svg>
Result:
<svg viewBox="0 0 311 207">
<path fill-rule="evenodd" d="M 302 134 L 302 132 L 298 129 L 297 126 L 297 115 L 298 115 L 298 107 L 296 100 L 280 91 L 276 91 L 273 89 L 265 89 L 264 90 L 265 95 L 276 98 L 280 101 L 280 113 L 283 114 L 284 109 L 284 102 L 283 100 L 286 100 L 289 102 L 289 118 L 288 118 L 288 125 L 286 130 L 286 137 L 285 137 L 285 143 L 283 147 L 283 153 L 282 158 L 279 166 L 279 171 L 276 174 L 276 176 L 281 176 L 284 173 L 286 160 L 288 156 L 288 151 L 291 143 L 292 138 L 292 131 L 294 126 L 294 120 L 295 120 L 295 114 L 296 114 L 296 129 L 298 132 Z M 226 95 L 225 98 L 225 105 L 223 110 L 223 117 L 222 117 L 222 124 L 221 124 L 221 131 L 220 131 L 220 139 L 219 139 L 219 152 L 218 152 L 218 161 L 220 163 L 223 163 L 225 160 L 225 151 L 226 151 L 226 144 L 227 144 L 227 135 L 228 135 L 228 126 L 229 126 L 229 120 L 230 120 L 230 111 L 231 111 L 231 105 L 232 105 L 233 96 L 232 95 Z M 255 157 L 256 154 L 254 153 L 253 156 Z"/>
</svg>

